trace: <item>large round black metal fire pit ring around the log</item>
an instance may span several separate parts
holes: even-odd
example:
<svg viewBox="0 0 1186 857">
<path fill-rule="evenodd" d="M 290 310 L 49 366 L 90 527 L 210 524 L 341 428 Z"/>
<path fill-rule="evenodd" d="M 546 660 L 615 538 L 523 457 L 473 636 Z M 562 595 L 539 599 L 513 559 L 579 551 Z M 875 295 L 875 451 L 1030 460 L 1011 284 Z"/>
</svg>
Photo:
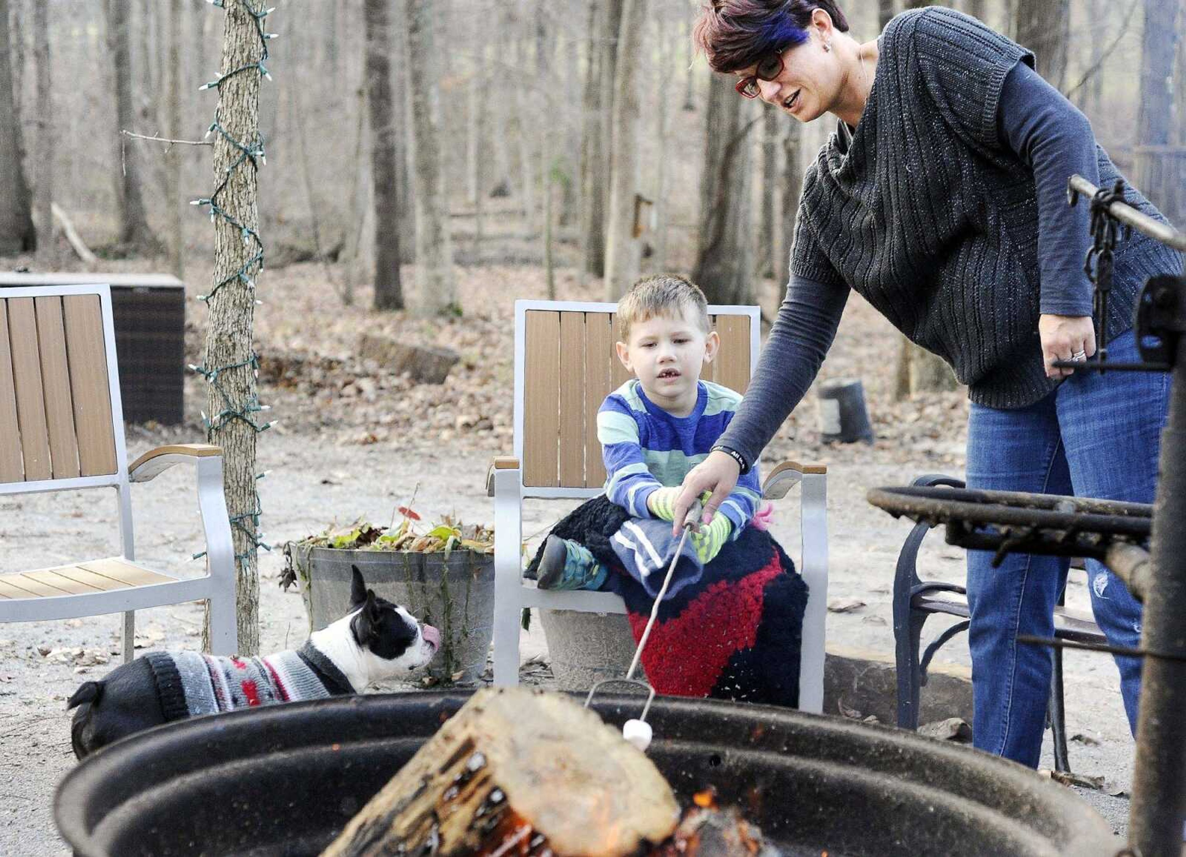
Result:
<svg viewBox="0 0 1186 857">
<path fill-rule="evenodd" d="M 79 857 L 318 853 L 467 699 L 375 695 L 198 717 L 116 742 L 55 799 Z M 621 725 L 638 697 L 593 708 Z M 714 787 L 788 857 L 1112 857 L 1069 789 L 913 733 L 763 705 L 659 697 L 649 755 L 681 801 Z"/>
</svg>

